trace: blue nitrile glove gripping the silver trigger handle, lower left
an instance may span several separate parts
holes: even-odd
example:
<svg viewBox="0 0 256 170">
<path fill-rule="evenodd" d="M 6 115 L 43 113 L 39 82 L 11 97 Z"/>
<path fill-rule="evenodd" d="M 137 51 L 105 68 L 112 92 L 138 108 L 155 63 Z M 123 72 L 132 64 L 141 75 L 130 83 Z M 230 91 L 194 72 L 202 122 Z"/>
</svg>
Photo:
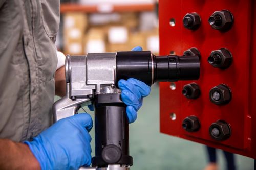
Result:
<svg viewBox="0 0 256 170">
<path fill-rule="evenodd" d="M 92 118 L 76 114 L 53 124 L 31 142 L 25 141 L 41 169 L 78 169 L 91 164 Z"/>
</svg>

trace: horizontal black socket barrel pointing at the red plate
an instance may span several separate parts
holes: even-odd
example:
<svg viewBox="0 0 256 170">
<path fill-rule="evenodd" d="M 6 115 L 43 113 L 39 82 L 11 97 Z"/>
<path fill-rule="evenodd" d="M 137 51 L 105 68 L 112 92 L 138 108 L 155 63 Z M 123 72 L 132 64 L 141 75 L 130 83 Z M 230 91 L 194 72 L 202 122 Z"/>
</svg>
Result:
<svg viewBox="0 0 256 170">
<path fill-rule="evenodd" d="M 135 78 L 151 86 L 154 82 L 198 80 L 198 56 L 155 56 L 150 51 L 117 52 L 116 78 Z M 152 80 L 153 79 L 153 80 Z"/>
</svg>

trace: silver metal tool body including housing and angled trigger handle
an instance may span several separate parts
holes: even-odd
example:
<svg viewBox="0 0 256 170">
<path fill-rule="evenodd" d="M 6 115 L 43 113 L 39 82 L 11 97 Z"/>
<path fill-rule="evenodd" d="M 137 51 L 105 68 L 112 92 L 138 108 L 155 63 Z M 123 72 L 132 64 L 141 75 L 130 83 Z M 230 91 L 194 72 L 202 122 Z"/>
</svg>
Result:
<svg viewBox="0 0 256 170">
<path fill-rule="evenodd" d="M 91 104 L 94 94 L 119 93 L 115 87 L 116 53 L 66 56 L 66 96 L 53 105 L 54 122 Z M 89 97 L 90 96 L 90 97 Z"/>
</svg>

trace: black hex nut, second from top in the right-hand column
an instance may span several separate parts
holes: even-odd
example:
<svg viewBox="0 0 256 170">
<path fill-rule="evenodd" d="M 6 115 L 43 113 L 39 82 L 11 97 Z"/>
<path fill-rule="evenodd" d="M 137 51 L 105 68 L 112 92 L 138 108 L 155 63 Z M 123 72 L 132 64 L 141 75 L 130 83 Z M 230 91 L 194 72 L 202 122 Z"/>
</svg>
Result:
<svg viewBox="0 0 256 170">
<path fill-rule="evenodd" d="M 210 62 L 214 57 L 220 56 L 219 62 Z M 226 48 L 220 48 L 219 50 L 214 50 L 210 53 L 208 57 L 208 62 L 217 68 L 226 69 L 232 64 L 232 54 Z"/>
</svg>

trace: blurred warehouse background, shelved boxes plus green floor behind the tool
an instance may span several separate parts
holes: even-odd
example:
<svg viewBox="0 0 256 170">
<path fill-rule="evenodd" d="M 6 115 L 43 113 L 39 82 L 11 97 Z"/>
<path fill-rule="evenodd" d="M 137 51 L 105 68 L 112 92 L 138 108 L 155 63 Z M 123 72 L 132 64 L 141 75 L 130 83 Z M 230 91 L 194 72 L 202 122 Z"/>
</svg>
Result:
<svg viewBox="0 0 256 170">
<path fill-rule="evenodd" d="M 62 0 L 60 11 L 56 46 L 65 54 L 129 51 L 135 46 L 159 53 L 157 1 Z M 143 102 L 137 121 L 130 125 L 132 169 L 203 169 L 204 145 L 160 134 L 158 85 Z M 93 156 L 94 129 L 90 134 Z M 225 169 L 223 153 L 218 156 L 220 169 Z M 238 169 L 253 169 L 253 159 L 236 155 L 236 160 Z"/>
</svg>

